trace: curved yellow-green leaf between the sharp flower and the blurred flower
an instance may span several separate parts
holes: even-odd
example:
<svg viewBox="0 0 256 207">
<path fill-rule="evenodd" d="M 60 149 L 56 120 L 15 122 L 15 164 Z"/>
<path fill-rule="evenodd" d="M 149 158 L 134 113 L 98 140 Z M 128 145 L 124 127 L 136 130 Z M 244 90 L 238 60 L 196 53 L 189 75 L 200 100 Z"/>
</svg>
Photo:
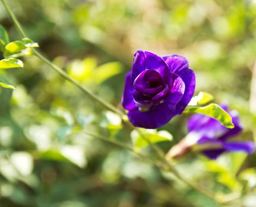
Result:
<svg viewBox="0 0 256 207">
<path fill-rule="evenodd" d="M 209 104 L 203 107 L 192 107 L 192 108 L 186 109 L 184 112 L 204 114 L 204 115 L 207 115 L 208 117 L 216 119 L 217 121 L 220 122 L 220 124 L 224 125 L 227 128 L 235 127 L 230 115 L 217 104 Z"/>
</svg>

